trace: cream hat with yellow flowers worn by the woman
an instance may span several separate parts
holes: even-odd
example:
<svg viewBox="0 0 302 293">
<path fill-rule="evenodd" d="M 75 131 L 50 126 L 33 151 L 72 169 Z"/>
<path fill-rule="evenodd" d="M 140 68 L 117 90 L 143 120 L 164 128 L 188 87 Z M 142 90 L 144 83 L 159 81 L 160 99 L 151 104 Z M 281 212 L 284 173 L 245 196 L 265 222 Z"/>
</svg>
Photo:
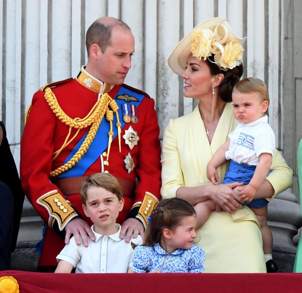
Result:
<svg viewBox="0 0 302 293">
<path fill-rule="evenodd" d="M 171 53 L 168 64 L 178 75 L 184 73 L 190 54 L 201 60 L 214 54 L 221 70 L 234 68 L 241 63 L 245 38 L 238 38 L 224 18 L 208 19 L 190 31 Z"/>
</svg>

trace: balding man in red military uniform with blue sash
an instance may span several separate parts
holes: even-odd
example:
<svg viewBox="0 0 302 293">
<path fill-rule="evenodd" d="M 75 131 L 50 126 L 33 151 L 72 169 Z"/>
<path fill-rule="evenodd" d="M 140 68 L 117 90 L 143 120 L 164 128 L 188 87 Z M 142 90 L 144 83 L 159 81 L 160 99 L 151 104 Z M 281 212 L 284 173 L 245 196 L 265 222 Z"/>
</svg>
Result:
<svg viewBox="0 0 302 293">
<path fill-rule="evenodd" d="M 38 267 L 56 266 L 73 234 L 94 240 L 82 210 L 81 182 L 110 172 L 124 194 L 120 238 L 143 235 L 160 199 L 159 126 L 154 100 L 123 84 L 134 38 L 127 24 L 100 18 L 86 34 L 88 63 L 75 79 L 43 86 L 27 111 L 21 142 L 21 183 L 47 223 Z"/>
</svg>

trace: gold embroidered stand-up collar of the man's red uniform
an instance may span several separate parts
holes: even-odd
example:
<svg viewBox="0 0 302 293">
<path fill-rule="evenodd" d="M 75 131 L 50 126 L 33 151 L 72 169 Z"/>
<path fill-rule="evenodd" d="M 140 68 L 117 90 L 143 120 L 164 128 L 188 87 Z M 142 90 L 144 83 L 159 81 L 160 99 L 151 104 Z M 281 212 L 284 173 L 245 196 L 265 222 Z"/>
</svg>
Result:
<svg viewBox="0 0 302 293">
<path fill-rule="evenodd" d="M 84 66 L 82 66 L 79 76 L 76 77 L 76 81 L 88 90 L 101 94 L 109 92 L 114 87 L 113 84 L 103 83 L 101 80 L 93 77 L 84 69 Z"/>
</svg>

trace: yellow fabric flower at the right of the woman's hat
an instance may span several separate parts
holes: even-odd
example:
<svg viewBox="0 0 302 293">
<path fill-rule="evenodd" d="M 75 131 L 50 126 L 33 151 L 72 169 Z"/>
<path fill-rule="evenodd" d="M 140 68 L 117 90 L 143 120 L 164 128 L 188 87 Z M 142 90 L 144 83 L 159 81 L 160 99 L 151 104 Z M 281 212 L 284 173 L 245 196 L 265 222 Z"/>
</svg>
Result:
<svg viewBox="0 0 302 293">
<path fill-rule="evenodd" d="M 214 60 L 215 62 L 220 60 L 219 64 L 217 64 L 220 69 L 232 69 L 240 64 L 243 51 L 244 49 L 240 43 L 233 43 L 233 41 L 230 41 L 230 43 L 224 46 L 223 59 L 220 60 L 221 53 L 219 53 L 214 56 Z"/>
</svg>

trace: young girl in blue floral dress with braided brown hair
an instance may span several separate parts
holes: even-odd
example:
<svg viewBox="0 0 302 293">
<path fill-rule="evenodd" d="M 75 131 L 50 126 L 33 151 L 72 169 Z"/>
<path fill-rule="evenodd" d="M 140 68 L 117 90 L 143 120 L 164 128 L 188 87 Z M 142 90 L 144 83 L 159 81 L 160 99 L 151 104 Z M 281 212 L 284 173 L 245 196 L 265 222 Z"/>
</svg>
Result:
<svg viewBox="0 0 302 293">
<path fill-rule="evenodd" d="M 133 272 L 203 272 L 204 250 L 193 244 L 195 226 L 190 203 L 176 197 L 160 201 L 152 211 L 143 244 L 134 249 Z"/>
</svg>

